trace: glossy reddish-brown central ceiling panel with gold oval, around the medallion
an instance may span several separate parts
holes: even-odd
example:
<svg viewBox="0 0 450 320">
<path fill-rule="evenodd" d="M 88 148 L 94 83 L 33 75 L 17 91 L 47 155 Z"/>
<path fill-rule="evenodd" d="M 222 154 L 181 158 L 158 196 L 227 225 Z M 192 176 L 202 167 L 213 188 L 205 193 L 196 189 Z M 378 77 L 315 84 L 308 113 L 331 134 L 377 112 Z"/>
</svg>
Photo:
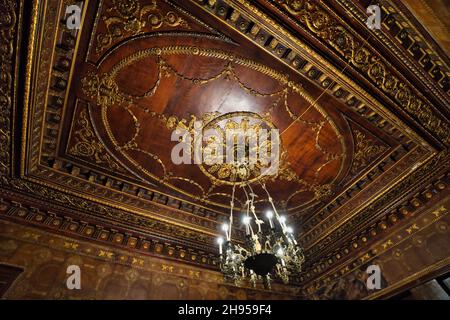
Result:
<svg viewBox="0 0 450 320">
<path fill-rule="evenodd" d="M 86 170 L 93 165 L 111 180 L 137 180 L 220 210 L 229 205 L 226 181 L 236 172 L 175 165 L 178 141 L 171 134 L 193 129 L 197 120 L 261 117 L 282 133 L 280 171 L 266 183 L 277 204 L 295 214 L 324 204 L 344 190 L 344 178 L 350 182 L 398 145 L 242 35 L 219 33 L 199 10 L 165 1 L 105 1 L 87 11 L 80 54 L 60 84 L 68 97 L 61 122 L 71 130 L 60 136 L 59 156 Z M 350 122 L 361 122 L 360 129 Z M 261 181 L 251 181 L 258 190 Z M 236 195 L 243 203 L 242 190 Z M 259 209 L 267 206 L 258 199 Z"/>
</svg>

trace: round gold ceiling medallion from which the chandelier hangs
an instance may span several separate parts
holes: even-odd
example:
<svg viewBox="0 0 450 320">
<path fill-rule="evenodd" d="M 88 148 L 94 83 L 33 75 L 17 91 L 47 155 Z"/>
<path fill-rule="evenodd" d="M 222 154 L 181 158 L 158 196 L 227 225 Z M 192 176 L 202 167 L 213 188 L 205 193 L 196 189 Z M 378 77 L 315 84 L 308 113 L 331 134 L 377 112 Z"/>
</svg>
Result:
<svg viewBox="0 0 450 320">
<path fill-rule="evenodd" d="M 206 132 L 209 134 L 205 135 Z M 266 137 L 260 136 L 263 132 L 267 133 Z M 279 149 L 272 148 L 277 142 L 278 130 L 269 117 L 253 112 L 230 112 L 207 122 L 203 133 L 204 159 L 199 167 L 217 185 L 256 182 L 268 177 L 271 166 L 279 164 Z M 239 144 L 241 138 L 242 144 Z M 230 139 L 233 141 L 227 148 Z M 240 150 L 242 157 L 238 156 Z"/>
</svg>

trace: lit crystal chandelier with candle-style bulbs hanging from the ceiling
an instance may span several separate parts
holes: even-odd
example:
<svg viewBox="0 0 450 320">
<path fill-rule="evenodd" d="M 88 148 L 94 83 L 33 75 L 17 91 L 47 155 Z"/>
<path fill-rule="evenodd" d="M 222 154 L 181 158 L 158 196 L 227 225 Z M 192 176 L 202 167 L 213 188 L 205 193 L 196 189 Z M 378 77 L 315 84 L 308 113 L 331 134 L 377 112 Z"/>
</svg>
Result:
<svg viewBox="0 0 450 320">
<path fill-rule="evenodd" d="M 236 185 L 232 191 L 229 223 L 222 226 L 225 238 L 218 238 L 220 270 L 225 280 L 239 285 L 247 278 L 254 287 L 258 280 L 262 280 L 266 289 L 271 288 L 273 277 L 281 279 L 285 284 L 289 283 L 289 277 L 300 273 L 305 261 L 303 250 L 295 240 L 292 227 L 286 225 L 285 216 L 278 214 L 264 184 L 261 184 L 261 187 L 267 193 L 272 210 L 266 212 L 267 223 L 259 219 L 255 211 L 256 195 L 252 187 L 249 184 L 241 184 L 240 187 L 247 197 L 242 214 L 246 237 L 243 243 L 236 243 L 231 237 L 235 187 Z"/>
</svg>

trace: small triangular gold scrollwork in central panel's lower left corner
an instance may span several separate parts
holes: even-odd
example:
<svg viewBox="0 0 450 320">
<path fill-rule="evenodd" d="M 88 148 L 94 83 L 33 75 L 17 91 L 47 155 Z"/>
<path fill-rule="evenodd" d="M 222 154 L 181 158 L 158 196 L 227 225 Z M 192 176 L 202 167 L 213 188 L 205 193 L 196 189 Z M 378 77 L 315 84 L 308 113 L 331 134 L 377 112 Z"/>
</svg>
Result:
<svg viewBox="0 0 450 320">
<path fill-rule="evenodd" d="M 96 164 L 107 165 L 114 171 L 122 171 L 122 168 L 108 154 L 104 145 L 97 141 L 86 110 L 80 112 L 77 124 L 81 129 L 75 131 L 75 145 L 69 150 L 69 154 L 89 158 Z"/>
</svg>

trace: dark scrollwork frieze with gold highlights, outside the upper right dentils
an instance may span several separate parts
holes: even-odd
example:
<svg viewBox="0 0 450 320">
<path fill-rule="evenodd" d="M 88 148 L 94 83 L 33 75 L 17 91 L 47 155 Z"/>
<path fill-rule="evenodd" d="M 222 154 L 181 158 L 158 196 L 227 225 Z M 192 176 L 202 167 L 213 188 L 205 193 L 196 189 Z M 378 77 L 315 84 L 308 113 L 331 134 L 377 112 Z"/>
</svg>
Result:
<svg viewBox="0 0 450 320">
<path fill-rule="evenodd" d="M 251 4 L 246 0 L 236 1 L 243 3 L 246 7 L 251 7 Z M 283 8 L 290 9 L 287 12 L 281 11 L 281 14 L 288 21 L 294 21 L 302 30 L 308 30 L 308 33 L 312 33 L 316 39 L 333 48 L 339 58 L 348 61 L 349 65 L 363 75 L 364 79 L 377 87 L 386 97 L 395 101 L 400 112 L 406 111 L 411 119 L 416 119 L 416 122 L 418 120 L 443 144 L 448 145 L 450 143 L 450 135 L 448 134 L 450 126 L 445 115 L 411 85 L 410 81 L 401 75 L 390 62 L 386 61 L 368 43 L 367 39 L 363 39 L 356 31 L 352 30 L 326 4 L 306 0 L 302 1 L 301 6 L 295 9 L 291 3 L 288 4 L 285 0 L 276 0 L 276 2 Z M 273 4 L 270 5 L 274 7 Z M 258 12 L 258 10 L 253 11 Z M 289 16 L 292 12 L 295 20 Z M 319 19 L 316 21 L 319 27 L 314 26 L 315 21 L 313 19 Z"/>
</svg>

